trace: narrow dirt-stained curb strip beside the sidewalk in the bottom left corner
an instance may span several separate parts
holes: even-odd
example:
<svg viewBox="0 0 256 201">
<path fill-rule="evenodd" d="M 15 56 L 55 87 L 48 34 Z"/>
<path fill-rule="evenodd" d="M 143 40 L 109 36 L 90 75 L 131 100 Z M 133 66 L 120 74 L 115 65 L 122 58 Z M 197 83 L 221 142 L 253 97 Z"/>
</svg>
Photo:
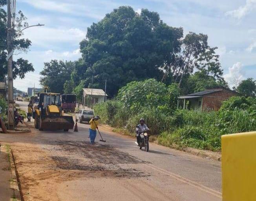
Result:
<svg viewBox="0 0 256 201">
<path fill-rule="evenodd" d="M 15 158 L 13 155 L 13 150 L 11 149 L 11 157 L 10 157 L 10 163 L 11 163 L 11 181 L 10 186 L 13 190 L 13 197 L 15 196 L 16 201 L 24 201 L 22 194 L 21 194 L 21 188 L 20 188 L 20 180 L 18 178 L 18 172 L 15 165 Z"/>
</svg>

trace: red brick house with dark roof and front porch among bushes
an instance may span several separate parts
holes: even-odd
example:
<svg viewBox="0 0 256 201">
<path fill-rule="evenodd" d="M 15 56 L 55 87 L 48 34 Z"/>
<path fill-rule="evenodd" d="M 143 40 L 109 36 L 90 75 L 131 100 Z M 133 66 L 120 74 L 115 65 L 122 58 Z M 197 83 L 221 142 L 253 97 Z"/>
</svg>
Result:
<svg viewBox="0 0 256 201">
<path fill-rule="evenodd" d="M 205 91 L 178 97 L 178 108 L 193 109 L 199 111 L 219 110 L 222 101 L 232 96 L 239 96 L 236 91 L 225 87 L 209 87 Z"/>
</svg>

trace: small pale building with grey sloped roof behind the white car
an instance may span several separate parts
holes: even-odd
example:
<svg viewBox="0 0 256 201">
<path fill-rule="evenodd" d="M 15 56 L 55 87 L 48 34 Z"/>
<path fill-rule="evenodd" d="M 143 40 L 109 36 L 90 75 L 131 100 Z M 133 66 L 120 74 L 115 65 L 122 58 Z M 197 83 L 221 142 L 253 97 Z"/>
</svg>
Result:
<svg viewBox="0 0 256 201">
<path fill-rule="evenodd" d="M 82 105 L 87 107 L 93 107 L 99 102 L 104 102 L 108 95 L 101 89 L 83 89 Z"/>
</svg>

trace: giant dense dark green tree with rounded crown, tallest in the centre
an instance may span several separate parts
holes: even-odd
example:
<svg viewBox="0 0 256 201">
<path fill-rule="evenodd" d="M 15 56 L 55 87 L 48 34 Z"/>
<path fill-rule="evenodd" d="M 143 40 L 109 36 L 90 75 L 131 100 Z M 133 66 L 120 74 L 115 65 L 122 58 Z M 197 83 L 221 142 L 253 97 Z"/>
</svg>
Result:
<svg viewBox="0 0 256 201">
<path fill-rule="evenodd" d="M 85 85 L 94 77 L 95 86 L 113 96 L 121 86 L 132 80 L 161 79 L 159 67 L 180 51 L 182 28 L 167 26 L 159 14 L 132 7 L 114 9 L 88 28 L 80 43 L 84 59 Z"/>
</svg>

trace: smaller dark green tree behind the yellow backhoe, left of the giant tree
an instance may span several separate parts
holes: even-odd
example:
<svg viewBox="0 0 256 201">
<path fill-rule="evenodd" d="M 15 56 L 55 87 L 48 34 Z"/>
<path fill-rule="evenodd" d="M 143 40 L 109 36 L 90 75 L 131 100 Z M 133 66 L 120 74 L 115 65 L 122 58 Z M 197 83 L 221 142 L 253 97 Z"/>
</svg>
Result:
<svg viewBox="0 0 256 201">
<path fill-rule="evenodd" d="M 40 72 L 40 84 L 47 86 L 51 92 L 63 93 L 66 80 L 70 80 L 74 70 L 74 62 L 51 60 L 44 63 L 44 69 Z"/>
</svg>

